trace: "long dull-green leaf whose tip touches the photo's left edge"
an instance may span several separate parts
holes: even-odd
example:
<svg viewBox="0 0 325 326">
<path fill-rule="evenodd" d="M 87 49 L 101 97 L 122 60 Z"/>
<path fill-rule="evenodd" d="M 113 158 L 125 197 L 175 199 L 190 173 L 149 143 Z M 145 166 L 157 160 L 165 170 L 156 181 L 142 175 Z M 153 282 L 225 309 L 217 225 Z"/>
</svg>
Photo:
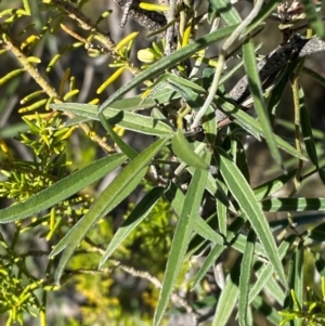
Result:
<svg viewBox="0 0 325 326">
<path fill-rule="evenodd" d="M 0 223 L 23 220 L 54 206 L 121 166 L 126 159 L 127 157 L 123 154 L 114 154 L 90 164 L 39 192 L 26 201 L 0 210 Z"/>
</svg>

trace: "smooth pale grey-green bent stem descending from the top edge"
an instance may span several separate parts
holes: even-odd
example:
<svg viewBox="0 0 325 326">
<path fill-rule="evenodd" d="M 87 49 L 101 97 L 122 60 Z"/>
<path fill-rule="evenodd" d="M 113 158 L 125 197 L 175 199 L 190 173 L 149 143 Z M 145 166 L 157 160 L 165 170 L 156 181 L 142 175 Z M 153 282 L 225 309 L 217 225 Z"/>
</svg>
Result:
<svg viewBox="0 0 325 326">
<path fill-rule="evenodd" d="M 217 69 L 216 69 L 214 77 L 213 77 L 213 81 L 212 81 L 211 88 L 209 90 L 209 95 L 208 95 L 205 104 L 203 105 L 203 107 L 197 113 L 197 115 L 191 126 L 191 129 L 197 128 L 200 125 L 202 118 L 205 116 L 205 114 L 207 113 L 207 109 L 209 108 L 209 106 L 211 105 L 211 103 L 214 99 L 216 92 L 219 87 L 219 81 L 220 81 L 220 78 L 222 75 L 223 66 L 225 63 L 227 49 L 240 37 L 244 29 L 258 15 L 258 13 L 260 12 L 260 10 L 263 5 L 263 2 L 264 2 L 263 0 L 257 0 L 256 5 L 253 6 L 250 14 L 240 23 L 240 25 L 233 31 L 233 34 L 230 36 L 230 38 L 222 45 L 220 55 L 219 55 L 219 60 L 218 60 Z"/>
</svg>

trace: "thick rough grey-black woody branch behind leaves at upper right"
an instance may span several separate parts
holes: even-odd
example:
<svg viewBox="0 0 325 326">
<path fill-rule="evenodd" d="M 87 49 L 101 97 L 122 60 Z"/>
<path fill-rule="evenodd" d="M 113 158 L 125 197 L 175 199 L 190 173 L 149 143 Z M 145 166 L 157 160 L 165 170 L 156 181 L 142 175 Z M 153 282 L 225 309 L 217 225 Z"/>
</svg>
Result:
<svg viewBox="0 0 325 326">
<path fill-rule="evenodd" d="M 286 64 L 318 52 L 325 52 L 325 42 L 323 40 L 320 38 L 303 39 L 297 34 L 294 35 L 289 42 L 285 45 L 277 47 L 258 63 L 263 90 L 266 87 L 263 82 L 271 76 L 275 78 L 276 73 L 280 73 Z M 270 86 L 269 80 L 268 86 Z M 229 94 L 237 104 L 240 104 L 249 93 L 248 77 L 245 75 Z M 223 127 L 231 122 L 227 115 L 220 109 L 216 110 L 216 115 L 218 118 L 218 127 Z"/>
</svg>

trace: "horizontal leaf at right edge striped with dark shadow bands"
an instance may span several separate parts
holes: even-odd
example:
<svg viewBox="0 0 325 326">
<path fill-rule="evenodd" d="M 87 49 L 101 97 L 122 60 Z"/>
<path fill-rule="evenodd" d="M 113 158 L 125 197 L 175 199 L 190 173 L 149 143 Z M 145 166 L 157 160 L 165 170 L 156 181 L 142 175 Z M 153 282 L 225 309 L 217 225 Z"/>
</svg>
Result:
<svg viewBox="0 0 325 326">
<path fill-rule="evenodd" d="M 325 210 L 325 198 L 272 198 L 261 201 L 263 211 Z"/>
</svg>

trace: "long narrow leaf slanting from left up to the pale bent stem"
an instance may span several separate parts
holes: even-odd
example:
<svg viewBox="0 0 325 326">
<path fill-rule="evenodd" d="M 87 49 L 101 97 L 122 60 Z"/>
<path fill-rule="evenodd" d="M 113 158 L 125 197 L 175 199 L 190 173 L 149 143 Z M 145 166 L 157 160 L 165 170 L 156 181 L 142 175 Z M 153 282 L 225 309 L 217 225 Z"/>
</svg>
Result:
<svg viewBox="0 0 325 326">
<path fill-rule="evenodd" d="M 223 38 L 230 36 L 237 26 L 229 26 L 221 29 L 218 29 L 213 32 L 210 32 L 200 39 L 197 39 L 193 43 L 173 52 L 172 54 L 162 57 L 160 61 L 152 65 L 150 68 L 139 74 L 135 78 L 133 78 L 130 82 L 122 86 L 118 89 L 110 97 L 108 97 L 100 107 L 99 113 L 106 109 L 110 103 L 115 102 L 117 99 L 121 97 L 123 94 L 132 90 L 134 87 L 141 84 L 143 81 L 151 79 L 159 74 L 164 73 L 165 69 L 171 68 L 178 63 L 184 61 L 185 58 L 193 55 L 195 52 L 205 49 Z"/>
</svg>

